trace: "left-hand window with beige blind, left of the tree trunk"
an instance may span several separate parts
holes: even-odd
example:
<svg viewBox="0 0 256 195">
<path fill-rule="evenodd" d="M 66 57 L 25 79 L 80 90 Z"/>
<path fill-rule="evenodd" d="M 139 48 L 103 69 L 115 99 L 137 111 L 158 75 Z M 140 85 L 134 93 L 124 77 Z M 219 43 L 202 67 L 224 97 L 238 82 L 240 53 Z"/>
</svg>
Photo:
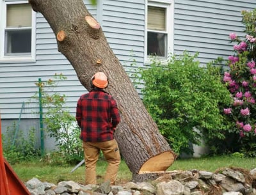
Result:
<svg viewBox="0 0 256 195">
<path fill-rule="evenodd" d="M 35 17 L 28 1 L 6 1 L 1 15 L 1 61 L 33 60 Z"/>
</svg>

